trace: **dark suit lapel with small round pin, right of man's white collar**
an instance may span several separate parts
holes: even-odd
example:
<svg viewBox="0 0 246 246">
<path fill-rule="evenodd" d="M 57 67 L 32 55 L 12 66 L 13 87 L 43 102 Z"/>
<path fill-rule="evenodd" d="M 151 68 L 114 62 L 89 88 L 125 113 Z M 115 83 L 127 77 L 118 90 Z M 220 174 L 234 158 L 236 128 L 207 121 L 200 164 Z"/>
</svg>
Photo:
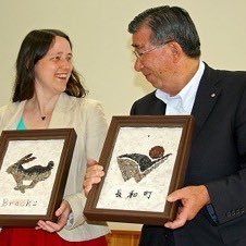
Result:
<svg viewBox="0 0 246 246">
<path fill-rule="evenodd" d="M 196 120 L 196 128 L 194 138 L 202 128 L 206 120 L 208 119 L 212 108 L 214 107 L 220 93 L 221 87 L 218 87 L 219 76 L 217 71 L 210 69 L 206 64 L 205 73 L 201 77 L 200 85 L 197 90 L 196 100 L 194 102 L 192 114 Z"/>
</svg>

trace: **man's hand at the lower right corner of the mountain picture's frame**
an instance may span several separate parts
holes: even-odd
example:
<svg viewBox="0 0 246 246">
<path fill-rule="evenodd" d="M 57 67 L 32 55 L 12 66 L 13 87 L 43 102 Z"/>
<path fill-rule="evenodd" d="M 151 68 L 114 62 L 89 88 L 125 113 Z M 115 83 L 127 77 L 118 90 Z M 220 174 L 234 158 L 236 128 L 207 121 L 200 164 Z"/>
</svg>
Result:
<svg viewBox="0 0 246 246">
<path fill-rule="evenodd" d="M 204 206 L 210 204 L 208 189 L 205 185 L 187 186 L 168 196 L 168 201 L 176 200 L 181 201 L 182 207 L 179 208 L 176 219 L 167 222 L 165 227 L 177 229 L 183 226 L 186 221 L 194 219 Z"/>
</svg>

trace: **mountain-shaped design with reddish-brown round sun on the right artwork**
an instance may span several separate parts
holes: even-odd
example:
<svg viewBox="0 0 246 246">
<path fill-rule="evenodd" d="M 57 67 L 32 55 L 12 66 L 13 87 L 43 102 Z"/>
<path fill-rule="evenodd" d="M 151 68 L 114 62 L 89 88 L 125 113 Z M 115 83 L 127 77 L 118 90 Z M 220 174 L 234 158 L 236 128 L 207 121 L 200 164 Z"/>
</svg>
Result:
<svg viewBox="0 0 246 246">
<path fill-rule="evenodd" d="M 124 153 L 116 157 L 123 180 L 126 182 L 134 177 L 138 183 L 152 170 L 163 163 L 172 153 L 164 156 L 162 146 L 155 146 L 149 150 L 149 156 L 143 153 Z"/>
</svg>

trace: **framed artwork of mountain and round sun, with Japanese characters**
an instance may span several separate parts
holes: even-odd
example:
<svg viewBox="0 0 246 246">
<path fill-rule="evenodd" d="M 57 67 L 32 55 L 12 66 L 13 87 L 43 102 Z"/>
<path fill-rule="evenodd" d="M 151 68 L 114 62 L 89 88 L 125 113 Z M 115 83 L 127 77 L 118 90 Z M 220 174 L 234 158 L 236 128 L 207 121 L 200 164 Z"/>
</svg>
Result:
<svg viewBox="0 0 246 246">
<path fill-rule="evenodd" d="M 163 225 L 183 186 L 194 128 L 190 115 L 113 116 L 99 163 L 106 175 L 90 190 L 88 220 Z"/>
</svg>

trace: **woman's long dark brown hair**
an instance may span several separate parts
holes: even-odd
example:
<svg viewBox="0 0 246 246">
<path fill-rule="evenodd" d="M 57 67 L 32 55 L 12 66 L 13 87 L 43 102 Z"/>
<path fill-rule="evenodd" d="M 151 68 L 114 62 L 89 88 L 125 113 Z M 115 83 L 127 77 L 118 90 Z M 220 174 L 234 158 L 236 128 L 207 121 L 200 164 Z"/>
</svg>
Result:
<svg viewBox="0 0 246 246">
<path fill-rule="evenodd" d="M 35 64 L 46 56 L 56 36 L 65 38 L 72 49 L 69 36 L 58 29 L 35 29 L 24 38 L 16 59 L 13 102 L 30 99 L 34 96 Z M 84 97 L 86 95 L 79 75 L 74 69 L 66 84 L 65 93 L 73 97 Z"/>
</svg>

